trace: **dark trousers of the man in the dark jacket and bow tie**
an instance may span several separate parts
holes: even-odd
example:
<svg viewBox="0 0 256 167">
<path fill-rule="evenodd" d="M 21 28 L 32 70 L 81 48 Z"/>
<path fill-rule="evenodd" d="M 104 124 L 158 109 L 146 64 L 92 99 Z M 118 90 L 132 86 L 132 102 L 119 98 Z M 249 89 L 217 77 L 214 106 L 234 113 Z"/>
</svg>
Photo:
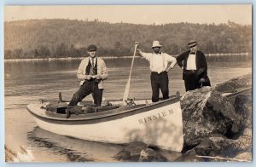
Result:
<svg viewBox="0 0 256 167">
<path fill-rule="evenodd" d="M 197 71 L 185 71 L 184 83 L 186 91 L 200 88 L 200 84 L 198 83 Z"/>
</svg>

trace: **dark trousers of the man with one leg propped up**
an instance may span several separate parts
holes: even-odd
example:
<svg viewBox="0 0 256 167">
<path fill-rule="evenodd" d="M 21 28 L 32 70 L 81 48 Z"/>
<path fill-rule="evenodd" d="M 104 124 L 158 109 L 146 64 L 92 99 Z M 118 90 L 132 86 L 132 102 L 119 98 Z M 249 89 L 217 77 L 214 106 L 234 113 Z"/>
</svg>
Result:
<svg viewBox="0 0 256 167">
<path fill-rule="evenodd" d="M 73 95 L 73 98 L 69 102 L 68 106 L 76 106 L 80 101 L 84 99 L 84 97 L 90 94 L 92 94 L 94 104 L 96 106 L 101 106 L 103 89 L 99 89 L 98 82 L 96 79 L 92 79 L 90 81 L 85 80 L 84 84 L 81 85 L 79 90 Z"/>
</svg>

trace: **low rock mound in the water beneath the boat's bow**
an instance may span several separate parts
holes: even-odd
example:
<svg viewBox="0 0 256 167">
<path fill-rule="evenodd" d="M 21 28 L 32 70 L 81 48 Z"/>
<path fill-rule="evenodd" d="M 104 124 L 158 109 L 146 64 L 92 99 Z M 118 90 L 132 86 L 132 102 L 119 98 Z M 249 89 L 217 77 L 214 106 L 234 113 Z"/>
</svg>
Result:
<svg viewBox="0 0 256 167">
<path fill-rule="evenodd" d="M 154 151 L 151 148 L 140 141 L 133 141 L 128 146 L 126 146 L 122 151 L 120 151 L 113 158 L 117 158 L 122 161 L 131 162 L 166 162 L 165 158 L 160 153 Z"/>
</svg>

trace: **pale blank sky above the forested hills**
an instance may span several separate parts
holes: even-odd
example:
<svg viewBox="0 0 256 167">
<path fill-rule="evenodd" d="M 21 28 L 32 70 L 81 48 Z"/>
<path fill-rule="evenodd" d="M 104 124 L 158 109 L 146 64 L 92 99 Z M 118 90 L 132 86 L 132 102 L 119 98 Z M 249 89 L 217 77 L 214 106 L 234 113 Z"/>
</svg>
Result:
<svg viewBox="0 0 256 167">
<path fill-rule="evenodd" d="M 5 21 L 55 18 L 146 25 L 177 22 L 220 24 L 230 20 L 252 25 L 252 5 L 49 5 L 5 6 L 4 9 Z"/>
</svg>

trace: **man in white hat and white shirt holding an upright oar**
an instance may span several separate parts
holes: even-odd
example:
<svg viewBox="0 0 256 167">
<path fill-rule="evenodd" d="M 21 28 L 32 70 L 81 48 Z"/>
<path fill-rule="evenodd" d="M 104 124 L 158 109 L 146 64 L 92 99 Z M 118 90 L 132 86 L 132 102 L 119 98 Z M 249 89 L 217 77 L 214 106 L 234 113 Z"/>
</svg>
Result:
<svg viewBox="0 0 256 167">
<path fill-rule="evenodd" d="M 152 44 L 154 53 L 144 53 L 137 48 L 138 54 L 149 61 L 153 102 L 159 101 L 160 90 L 164 100 L 169 98 L 168 72 L 177 62 L 177 60 L 171 55 L 160 52 L 161 46 L 162 45 L 160 45 L 159 41 L 154 41 Z"/>
</svg>

